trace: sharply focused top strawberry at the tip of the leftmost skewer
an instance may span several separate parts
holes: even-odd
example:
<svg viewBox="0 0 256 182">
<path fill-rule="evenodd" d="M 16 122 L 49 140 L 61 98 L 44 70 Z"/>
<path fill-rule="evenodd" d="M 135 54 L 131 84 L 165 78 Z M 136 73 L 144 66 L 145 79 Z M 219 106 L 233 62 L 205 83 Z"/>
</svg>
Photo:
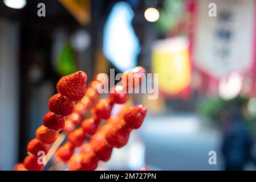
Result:
<svg viewBox="0 0 256 182">
<path fill-rule="evenodd" d="M 57 84 L 57 90 L 68 100 L 79 101 L 86 94 L 86 81 L 86 73 L 78 71 L 60 78 Z"/>
</svg>

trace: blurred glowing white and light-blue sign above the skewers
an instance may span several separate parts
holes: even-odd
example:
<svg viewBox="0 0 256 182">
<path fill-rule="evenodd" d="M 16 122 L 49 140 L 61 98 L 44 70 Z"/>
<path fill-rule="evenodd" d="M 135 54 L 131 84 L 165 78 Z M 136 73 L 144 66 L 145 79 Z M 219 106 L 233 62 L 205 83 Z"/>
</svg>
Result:
<svg viewBox="0 0 256 182">
<path fill-rule="evenodd" d="M 140 52 L 139 39 L 132 27 L 134 12 L 126 2 L 113 6 L 105 23 L 103 53 L 120 71 L 136 67 Z"/>
</svg>

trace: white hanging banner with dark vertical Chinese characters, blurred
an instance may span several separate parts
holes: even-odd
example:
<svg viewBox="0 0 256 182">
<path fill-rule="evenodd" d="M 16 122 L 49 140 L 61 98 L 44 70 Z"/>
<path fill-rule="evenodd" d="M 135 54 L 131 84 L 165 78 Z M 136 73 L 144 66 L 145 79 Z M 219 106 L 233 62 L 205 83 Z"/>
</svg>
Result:
<svg viewBox="0 0 256 182">
<path fill-rule="evenodd" d="M 251 69 L 255 61 L 255 7 L 254 0 L 196 1 L 192 39 L 196 68 L 217 79 Z"/>
</svg>

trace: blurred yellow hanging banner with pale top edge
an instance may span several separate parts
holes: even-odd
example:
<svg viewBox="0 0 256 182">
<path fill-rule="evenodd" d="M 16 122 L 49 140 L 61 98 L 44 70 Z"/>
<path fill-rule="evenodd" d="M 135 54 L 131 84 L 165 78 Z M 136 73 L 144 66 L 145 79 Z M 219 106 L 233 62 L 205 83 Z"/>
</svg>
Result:
<svg viewBox="0 0 256 182">
<path fill-rule="evenodd" d="M 183 37 L 157 41 L 152 50 L 152 69 L 159 74 L 159 90 L 164 96 L 187 98 L 191 70 L 188 40 Z"/>
</svg>

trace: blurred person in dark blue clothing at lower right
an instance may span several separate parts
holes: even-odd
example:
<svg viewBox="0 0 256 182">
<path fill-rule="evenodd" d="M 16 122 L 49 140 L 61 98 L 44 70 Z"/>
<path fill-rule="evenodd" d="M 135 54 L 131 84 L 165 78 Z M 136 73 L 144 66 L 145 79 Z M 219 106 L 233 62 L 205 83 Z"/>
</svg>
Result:
<svg viewBox="0 0 256 182">
<path fill-rule="evenodd" d="M 241 106 L 232 105 L 227 108 L 221 120 L 224 122 L 222 153 L 225 170 L 242 171 L 250 160 L 255 164 L 256 160 L 251 155 L 253 140 L 246 127 Z"/>
</svg>

